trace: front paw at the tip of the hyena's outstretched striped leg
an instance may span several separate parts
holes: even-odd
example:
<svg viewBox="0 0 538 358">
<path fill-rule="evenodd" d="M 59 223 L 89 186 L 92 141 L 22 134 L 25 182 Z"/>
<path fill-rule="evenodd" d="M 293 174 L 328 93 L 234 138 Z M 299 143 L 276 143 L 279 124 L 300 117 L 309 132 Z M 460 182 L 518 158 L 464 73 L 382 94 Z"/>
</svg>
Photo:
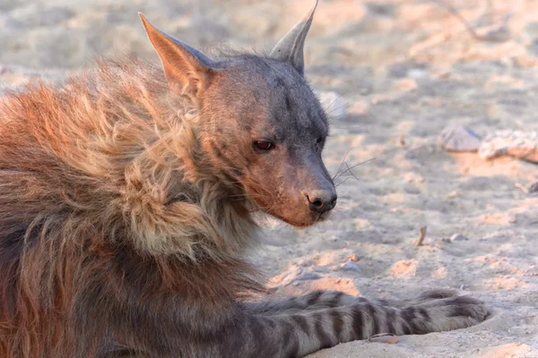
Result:
<svg viewBox="0 0 538 358">
<path fill-rule="evenodd" d="M 468 328 L 482 322 L 489 314 L 482 301 L 469 296 L 435 299 L 403 310 L 404 320 L 410 321 L 412 328 L 423 329 L 417 333 Z"/>
</svg>

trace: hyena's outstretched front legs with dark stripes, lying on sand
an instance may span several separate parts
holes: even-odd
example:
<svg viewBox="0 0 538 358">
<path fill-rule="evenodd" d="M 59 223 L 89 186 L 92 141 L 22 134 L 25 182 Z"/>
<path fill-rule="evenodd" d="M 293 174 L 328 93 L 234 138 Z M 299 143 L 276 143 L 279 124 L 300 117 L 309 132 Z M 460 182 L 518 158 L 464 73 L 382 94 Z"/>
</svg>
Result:
<svg viewBox="0 0 538 358">
<path fill-rule="evenodd" d="M 249 304 L 239 341 L 230 337 L 233 346 L 226 348 L 231 350 L 221 352 L 240 357 L 300 357 L 379 333 L 411 335 L 467 328 L 489 314 L 482 302 L 454 296 L 451 291 L 431 291 L 401 304 L 407 303 L 412 305 L 389 307 L 317 291 L 274 303 Z"/>
</svg>

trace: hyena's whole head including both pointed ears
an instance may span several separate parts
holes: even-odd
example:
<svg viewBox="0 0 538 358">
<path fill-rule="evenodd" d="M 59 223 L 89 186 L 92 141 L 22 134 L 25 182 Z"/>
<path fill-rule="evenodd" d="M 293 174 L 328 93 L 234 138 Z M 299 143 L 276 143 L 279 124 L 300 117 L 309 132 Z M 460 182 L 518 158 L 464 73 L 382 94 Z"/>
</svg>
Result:
<svg viewBox="0 0 538 358">
<path fill-rule="evenodd" d="M 303 46 L 314 8 L 270 55 L 214 60 L 156 29 L 141 14 L 173 90 L 194 98 L 207 166 L 273 217 L 308 226 L 334 208 L 321 158 L 328 124 L 304 78 Z"/>
</svg>

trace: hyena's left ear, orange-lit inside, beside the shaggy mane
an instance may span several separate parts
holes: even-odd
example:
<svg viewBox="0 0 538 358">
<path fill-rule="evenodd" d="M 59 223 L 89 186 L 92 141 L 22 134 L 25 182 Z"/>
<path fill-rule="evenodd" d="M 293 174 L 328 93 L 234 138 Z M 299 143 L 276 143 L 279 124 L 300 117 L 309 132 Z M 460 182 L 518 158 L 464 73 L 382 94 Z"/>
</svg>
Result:
<svg viewBox="0 0 538 358">
<path fill-rule="evenodd" d="M 182 93 L 186 90 L 194 91 L 195 94 L 204 90 L 216 69 L 215 61 L 185 42 L 157 29 L 143 13 L 138 13 L 138 15 L 148 38 L 161 57 L 164 74 L 170 88 Z"/>
</svg>

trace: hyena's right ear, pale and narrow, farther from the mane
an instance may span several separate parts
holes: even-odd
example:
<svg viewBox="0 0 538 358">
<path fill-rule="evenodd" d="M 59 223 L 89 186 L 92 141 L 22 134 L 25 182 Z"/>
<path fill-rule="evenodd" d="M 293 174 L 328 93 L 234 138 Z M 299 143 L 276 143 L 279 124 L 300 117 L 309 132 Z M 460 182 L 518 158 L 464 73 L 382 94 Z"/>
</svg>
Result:
<svg viewBox="0 0 538 358">
<path fill-rule="evenodd" d="M 317 0 L 314 7 L 299 21 L 293 29 L 291 29 L 284 37 L 276 44 L 271 51 L 271 57 L 288 62 L 301 74 L 305 72 L 305 60 L 303 48 L 305 39 L 307 38 L 308 30 L 316 12 Z"/>
</svg>

